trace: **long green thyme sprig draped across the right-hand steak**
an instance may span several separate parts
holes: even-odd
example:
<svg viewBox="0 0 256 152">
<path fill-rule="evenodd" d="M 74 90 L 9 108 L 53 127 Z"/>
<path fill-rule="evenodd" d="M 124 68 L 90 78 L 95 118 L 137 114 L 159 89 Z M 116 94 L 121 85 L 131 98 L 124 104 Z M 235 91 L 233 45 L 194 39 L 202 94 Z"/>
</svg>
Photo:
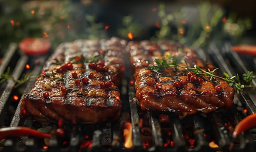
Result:
<svg viewBox="0 0 256 152">
<path fill-rule="evenodd" d="M 246 83 L 249 83 L 249 85 L 244 85 L 241 83 L 238 74 L 236 74 L 235 76 L 229 76 L 228 73 L 224 72 L 223 75 L 225 77 L 217 76 L 217 75 L 215 75 L 215 72 L 219 68 L 216 68 L 213 70 L 210 70 L 210 69 L 205 70 L 205 69 L 200 68 L 196 64 L 194 65 L 194 67 L 189 67 L 188 63 L 186 62 L 185 59 L 184 59 L 185 66 L 183 66 L 183 65 L 178 64 L 178 63 L 180 63 L 180 60 L 179 60 L 180 57 L 179 58 L 176 57 L 176 59 L 174 59 L 175 56 L 172 56 L 171 58 L 167 56 L 167 59 L 171 59 L 170 61 L 166 60 L 166 56 L 163 57 L 162 59 L 155 59 L 156 65 L 149 66 L 149 69 L 151 69 L 152 71 L 155 71 L 157 73 L 161 73 L 163 70 L 168 69 L 168 68 L 174 68 L 175 70 L 177 70 L 178 68 L 183 68 L 185 72 L 193 72 L 193 73 L 195 73 L 196 76 L 201 76 L 202 78 L 204 78 L 208 81 L 218 81 L 214 78 L 222 79 L 222 80 L 226 81 L 227 83 L 229 83 L 230 86 L 236 88 L 237 93 L 243 92 L 244 88 L 256 88 L 256 86 L 252 85 L 253 79 L 256 79 L 256 76 L 253 76 L 253 71 L 248 71 L 247 73 L 243 74 L 243 80 L 246 81 Z"/>
</svg>

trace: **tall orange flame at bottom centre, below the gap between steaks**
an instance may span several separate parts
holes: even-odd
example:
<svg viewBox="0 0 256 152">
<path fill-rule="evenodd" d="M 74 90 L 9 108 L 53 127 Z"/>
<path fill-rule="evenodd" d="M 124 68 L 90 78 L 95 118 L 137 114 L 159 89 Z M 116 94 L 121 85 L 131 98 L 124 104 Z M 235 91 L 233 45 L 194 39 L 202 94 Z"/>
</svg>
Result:
<svg viewBox="0 0 256 152">
<path fill-rule="evenodd" d="M 130 149 L 132 147 L 132 132 L 131 132 L 131 123 L 130 122 L 125 122 L 124 124 L 124 137 L 125 137 L 125 148 Z"/>
</svg>

